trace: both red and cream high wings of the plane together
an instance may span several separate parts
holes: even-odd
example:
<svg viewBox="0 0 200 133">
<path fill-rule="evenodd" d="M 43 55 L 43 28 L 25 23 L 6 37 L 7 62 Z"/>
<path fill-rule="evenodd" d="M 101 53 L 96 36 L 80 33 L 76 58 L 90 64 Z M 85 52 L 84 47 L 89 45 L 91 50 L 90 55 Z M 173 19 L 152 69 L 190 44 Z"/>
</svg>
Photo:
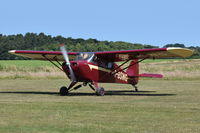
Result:
<svg viewBox="0 0 200 133">
<path fill-rule="evenodd" d="M 28 57 L 36 60 L 57 60 L 64 61 L 60 51 L 31 51 L 31 50 L 11 50 L 11 54 Z M 74 60 L 80 52 L 68 52 L 69 59 Z M 85 52 L 87 53 L 87 52 Z M 170 58 L 170 57 L 189 57 L 193 53 L 190 49 L 185 48 L 156 48 L 156 49 L 139 49 L 123 51 L 104 51 L 94 52 L 102 60 L 109 62 L 126 61 L 131 59 L 148 59 L 148 58 Z"/>
</svg>

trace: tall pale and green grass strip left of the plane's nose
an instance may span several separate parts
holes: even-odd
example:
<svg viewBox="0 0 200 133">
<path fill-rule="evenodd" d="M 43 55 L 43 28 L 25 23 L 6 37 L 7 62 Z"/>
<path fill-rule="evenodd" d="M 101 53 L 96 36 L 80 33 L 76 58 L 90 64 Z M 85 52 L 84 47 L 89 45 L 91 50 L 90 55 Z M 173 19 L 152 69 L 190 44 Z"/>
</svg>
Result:
<svg viewBox="0 0 200 133">
<path fill-rule="evenodd" d="M 65 74 L 48 61 L 0 61 L 0 79 L 66 78 Z"/>
</svg>

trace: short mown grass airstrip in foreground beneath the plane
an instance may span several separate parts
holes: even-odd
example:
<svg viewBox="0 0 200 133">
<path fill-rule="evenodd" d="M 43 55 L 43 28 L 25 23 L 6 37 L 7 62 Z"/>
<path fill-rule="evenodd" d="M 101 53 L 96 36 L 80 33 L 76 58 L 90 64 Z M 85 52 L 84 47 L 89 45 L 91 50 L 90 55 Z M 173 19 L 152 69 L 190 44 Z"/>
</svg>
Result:
<svg viewBox="0 0 200 133">
<path fill-rule="evenodd" d="M 1 133 L 198 133 L 199 80 L 142 80 L 140 92 L 101 84 L 61 97 L 66 80 L 0 80 Z"/>
</svg>

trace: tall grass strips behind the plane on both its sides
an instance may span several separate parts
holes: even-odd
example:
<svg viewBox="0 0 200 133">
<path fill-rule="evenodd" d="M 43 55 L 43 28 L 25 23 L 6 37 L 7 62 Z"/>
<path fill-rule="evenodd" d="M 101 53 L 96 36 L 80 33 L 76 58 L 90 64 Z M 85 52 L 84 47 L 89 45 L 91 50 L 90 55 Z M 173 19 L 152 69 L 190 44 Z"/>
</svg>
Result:
<svg viewBox="0 0 200 133">
<path fill-rule="evenodd" d="M 200 79 L 200 60 L 158 59 L 140 63 L 140 73 L 163 74 L 164 79 Z M 0 79 L 56 79 L 65 74 L 48 61 L 0 61 Z"/>
</svg>

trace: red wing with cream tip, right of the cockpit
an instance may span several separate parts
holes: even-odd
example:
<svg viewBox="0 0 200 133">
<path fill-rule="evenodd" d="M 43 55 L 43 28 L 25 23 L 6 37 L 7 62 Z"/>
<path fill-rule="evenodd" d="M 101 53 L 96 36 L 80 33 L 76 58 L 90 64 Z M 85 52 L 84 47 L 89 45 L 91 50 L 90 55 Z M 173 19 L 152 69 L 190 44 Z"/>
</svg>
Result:
<svg viewBox="0 0 200 133">
<path fill-rule="evenodd" d="M 103 60 L 117 62 L 131 59 L 159 59 L 171 57 L 189 57 L 193 51 L 186 48 L 154 48 L 154 49 L 139 49 L 139 50 L 124 50 L 124 51 L 105 51 L 95 52 L 95 55 Z"/>
</svg>

